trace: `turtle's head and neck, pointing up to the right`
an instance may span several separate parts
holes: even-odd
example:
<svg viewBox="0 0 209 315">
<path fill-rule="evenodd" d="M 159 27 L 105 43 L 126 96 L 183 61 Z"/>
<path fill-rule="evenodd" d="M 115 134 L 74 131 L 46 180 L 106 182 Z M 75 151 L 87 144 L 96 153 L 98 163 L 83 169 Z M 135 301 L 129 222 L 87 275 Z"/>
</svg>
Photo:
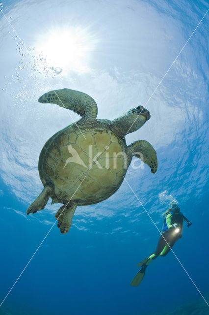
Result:
<svg viewBox="0 0 209 315">
<path fill-rule="evenodd" d="M 142 105 L 139 105 L 123 113 L 119 118 L 111 121 L 110 128 L 120 138 L 123 138 L 128 133 L 141 128 L 141 126 L 143 126 L 150 117 L 149 110 L 144 108 Z"/>
</svg>

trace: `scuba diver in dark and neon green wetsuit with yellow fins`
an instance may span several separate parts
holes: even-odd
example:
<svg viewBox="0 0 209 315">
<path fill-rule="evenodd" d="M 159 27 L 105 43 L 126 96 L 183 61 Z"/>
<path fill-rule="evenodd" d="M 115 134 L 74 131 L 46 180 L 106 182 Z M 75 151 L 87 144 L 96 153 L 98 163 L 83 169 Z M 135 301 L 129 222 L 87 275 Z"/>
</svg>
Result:
<svg viewBox="0 0 209 315">
<path fill-rule="evenodd" d="M 163 214 L 163 226 L 157 243 L 157 249 L 137 265 L 141 269 L 133 278 L 131 282 L 132 286 L 138 286 L 144 278 L 147 266 L 158 256 L 166 256 L 178 239 L 182 237 L 183 221 L 187 223 L 187 227 L 192 224 L 180 212 L 178 202 L 171 201 L 169 208 Z"/>
</svg>

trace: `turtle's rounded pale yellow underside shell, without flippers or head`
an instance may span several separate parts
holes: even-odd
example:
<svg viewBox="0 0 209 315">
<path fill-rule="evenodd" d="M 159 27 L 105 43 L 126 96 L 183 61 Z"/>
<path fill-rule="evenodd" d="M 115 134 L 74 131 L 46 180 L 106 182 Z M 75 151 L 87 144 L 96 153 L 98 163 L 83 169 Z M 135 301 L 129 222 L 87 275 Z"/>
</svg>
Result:
<svg viewBox="0 0 209 315">
<path fill-rule="evenodd" d="M 129 166 L 126 142 L 110 129 L 81 131 L 70 125 L 53 135 L 41 151 L 39 175 L 44 186 L 53 183 L 53 202 L 98 203 L 123 182 Z"/>
</svg>

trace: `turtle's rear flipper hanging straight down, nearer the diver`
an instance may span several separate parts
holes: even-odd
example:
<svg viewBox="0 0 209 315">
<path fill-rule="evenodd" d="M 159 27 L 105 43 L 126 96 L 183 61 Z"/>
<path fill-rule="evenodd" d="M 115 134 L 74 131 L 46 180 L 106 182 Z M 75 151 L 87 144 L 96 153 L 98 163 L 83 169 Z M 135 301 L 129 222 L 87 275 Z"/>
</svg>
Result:
<svg viewBox="0 0 209 315">
<path fill-rule="evenodd" d="M 66 234 L 69 231 L 76 207 L 77 202 L 70 201 L 68 204 L 59 208 L 55 214 L 55 218 L 58 221 L 57 226 L 59 227 L 62 234 Z"/>
</svg>

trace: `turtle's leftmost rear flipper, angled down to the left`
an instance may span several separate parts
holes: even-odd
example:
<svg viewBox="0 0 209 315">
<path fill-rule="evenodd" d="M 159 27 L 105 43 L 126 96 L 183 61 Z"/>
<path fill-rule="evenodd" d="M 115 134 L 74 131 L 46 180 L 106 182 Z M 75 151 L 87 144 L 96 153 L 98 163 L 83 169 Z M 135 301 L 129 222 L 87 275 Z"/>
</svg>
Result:
<svg viewBox="0 0 209 315">
<path fill-rule="evenodd" d="M 31 203 L 26 214 L 29 215 L 30 213 L 36 213 L 37 211 L 44 209 L 52 192 L 53 185 L 46 185 L 40 195 Z"/>
</svg>

